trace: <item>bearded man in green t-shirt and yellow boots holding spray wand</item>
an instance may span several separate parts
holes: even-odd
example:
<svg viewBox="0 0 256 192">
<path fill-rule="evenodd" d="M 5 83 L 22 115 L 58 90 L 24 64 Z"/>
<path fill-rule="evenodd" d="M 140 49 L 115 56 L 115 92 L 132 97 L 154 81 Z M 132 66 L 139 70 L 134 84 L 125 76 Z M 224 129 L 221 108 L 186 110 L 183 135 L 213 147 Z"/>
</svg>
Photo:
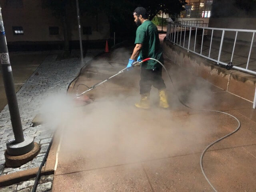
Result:
<svg viewBox="0 0 256 192">
<path fill-rule="evenodd" d="M 154 58 L 160 62 L 164 62 L 162 56 L 162 48 L 160 46 L 158 31 L 156 26 L 148 20 L 147 11 L 143 7 L 137 7 L 134 10 L 134 21 L 138 28 L 136 31 L 135 48 L 132 56 L 129 59 L 127 67 L 131 67 L 135 62 L 135 58 L 138 56 L 138 61 L 146 58 Z M 138 108 L 148 109 L 150 108 L 150 90 L 153 85 L 159 91 L 159 106 L 162 108 L 168 108 L 169 104 L 166 96 L 166 85 L 162 79 L 162 66 L 154 61 L 148 60 L 141 65 L 140 72 L 140 102 L 135 106 Z"/>
</svg>

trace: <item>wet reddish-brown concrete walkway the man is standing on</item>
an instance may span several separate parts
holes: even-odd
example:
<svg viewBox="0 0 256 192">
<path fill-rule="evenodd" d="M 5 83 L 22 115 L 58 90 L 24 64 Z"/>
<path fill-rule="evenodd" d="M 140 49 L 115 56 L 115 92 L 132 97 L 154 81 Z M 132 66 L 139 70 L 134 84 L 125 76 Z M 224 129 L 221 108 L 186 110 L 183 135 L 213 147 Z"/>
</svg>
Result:
<svg viewBox="0 0 256 192">
<path fill-rule="evenodd" d="M 126 67 L 132 48 L 104 54 L 82 70 L 79 84 L 92 86 Z M 166 67 L 182 100 L 194 108 L 227 111 L 241 121 L 234 135 L 204 156 L 206 175 L 218 191 L 256 190 L 256 113 L 252 103 L 180 70 Z M 53 192 L 170 192 L 212 189 L 200 170 L 204 148 L 237 127 L 218 113 L 182 106 L 163 72 L 170 109 L 157 107 L 152 88 L 150 110 L 139 110 L 140 69 L 124 72 L 89 92 L 94 102 L 74 109 L 63 130 Z M 78 92 L 86 88 L 78 87 Z"/>
</svg>

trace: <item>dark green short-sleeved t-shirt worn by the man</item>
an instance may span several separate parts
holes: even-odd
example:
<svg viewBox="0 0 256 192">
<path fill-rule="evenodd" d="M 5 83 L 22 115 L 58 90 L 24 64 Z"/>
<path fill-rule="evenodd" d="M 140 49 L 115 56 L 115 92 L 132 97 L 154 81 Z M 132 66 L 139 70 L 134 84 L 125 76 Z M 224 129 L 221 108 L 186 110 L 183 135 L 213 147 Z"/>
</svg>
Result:
<svg viewBox="0 0 256 192">
<path fill-rule="evenodd" d="M 144 21 L 137 28 L 135 44 L 142 44 L 140 52 L 142 60 L 150 57 L 163 62 L 157 27 L 150 20 Z M 141 67 L 145 69 L 156 69 L 161 67 L 161 65 L 154 60 L 148 60 L 143 62 Z"/>
</svg>

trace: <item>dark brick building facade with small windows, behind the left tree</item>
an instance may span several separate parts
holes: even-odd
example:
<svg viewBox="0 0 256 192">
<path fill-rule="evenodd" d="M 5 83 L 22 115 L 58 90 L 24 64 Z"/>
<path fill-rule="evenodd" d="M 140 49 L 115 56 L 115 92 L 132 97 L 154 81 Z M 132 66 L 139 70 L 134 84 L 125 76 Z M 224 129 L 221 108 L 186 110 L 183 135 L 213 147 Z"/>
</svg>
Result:
<svg viewBox="0 0 256 192">
<path fill-rule="evenodd" d="M 42 0 L 0 0 L 8 45 L 62 45 L 63 23 L 52 10 L 44 8 Z M 110 25 L 104 14 L 80 17 L 83 41 L 106 40 Z M 76 7 L 67 11 L 68 39 L 79 40 Z"/>
</svg>

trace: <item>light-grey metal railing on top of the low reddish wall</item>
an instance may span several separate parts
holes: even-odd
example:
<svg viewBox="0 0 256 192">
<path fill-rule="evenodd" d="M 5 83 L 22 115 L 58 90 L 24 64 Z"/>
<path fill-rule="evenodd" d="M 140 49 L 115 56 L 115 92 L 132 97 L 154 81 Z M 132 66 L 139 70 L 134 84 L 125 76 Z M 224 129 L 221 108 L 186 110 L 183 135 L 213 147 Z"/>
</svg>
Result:
<svg viewBox="0 0 256 192">
<path fill-rule="evenodd" d="M 184 22 L 184 21 L 182 21 Z M 213 62 L 216 62 L 217 64 L 221 64 L 224 66 L 227 66 L 229 64 L 230 66 L 230 62 L 232 63 L 233 58 L 234 58 L 234 51 L 236 48 L 236 44 L 237 44 L 237 36 L 239 32 L 246 32 L 246 36 L 250 37 L 250 51 L 248 52 L 248 58 L 247 58 L 247 64 L 245 68 L 239 67 L 239 66 L 232 66 L 233 69 L 236 70 L 240 70 L 246 73 L 250 73 L 250 74 L 254 74 L 256 75 L 256 71 L 254 70 L 249 70 L 248 66 L 249 66 L 249 62 L 250 62 L 250 57 L 251 57 L 251 53 L 252 53 L 252 47 L 253 47 L 253 43 L 254 43 L 254 36 L 256 33 L 256 30 L 243 30 L 243 29 L 226 29 L 226 28 L 209 28 L 207 27 L 207 24 L 205 23 L 200 23 L 200 22 L 192 22 L 190 23 L 190 25 L 185 25 L 182 22 L 170 22 L 168 23 L 167 26 L 167 33 L 166 33 L 166 39 L 170 42 L 172 42 L 173 44 L 176 44 L 177 46 L 180 46 L 184 49 L 186 49 L 188 52 L 192 52 L 194 54 L 197 54 L 199 56 L 202 56 L 203 58 L 209 59 Z M 200 26 L 202 25 L 202 26 Z M 194 46 L 192 45 L 191 47 L 191 34 L 195 33 L 195 39 L 194 39 Z M 202 35 L 202 42 L 201 42 L 201 48 L 199 52 L 196 52 L 196 38 L 197 38 L 197 34 L 200 32 L 200 34 L 204 34 Z M 211 51 L 212 51 L 212 40 L 213 40 L 213 34 L 214 32 L 219 32 L 221 33 L 221 39 L 220 39 L 220 46 L 218 48 L 218 59 L 212 58 L 211 57 Z M 222 62 L 220 61 L 221 58 L 221 54 L 222 54 L 222 46 L 223 46 L 223 42 L 224 42 L 224 35 L 226 32 L 234 32 L 235 33 L 235 38 L 234 38 L 234 44 L 233 44 L 233 48 L 232 48 L 232 54 L 230 56 L 230 61 L 229 62 Z M 203 55 L 202 54 L 202 48 L 204 45 L 204 38 L 206 34 L 211 34 L 210 37 L 210 47 L 209 47 L 209 52 L 207 55 Z M 186 42 L 186 44 L 188 44 L 188 46 L 185 46 L 185 41 L 187 40 L 186 37 L 188 38 L 188 41 Z M 183 41 L 183 44 L 182 44 Z"/>
</svg>

